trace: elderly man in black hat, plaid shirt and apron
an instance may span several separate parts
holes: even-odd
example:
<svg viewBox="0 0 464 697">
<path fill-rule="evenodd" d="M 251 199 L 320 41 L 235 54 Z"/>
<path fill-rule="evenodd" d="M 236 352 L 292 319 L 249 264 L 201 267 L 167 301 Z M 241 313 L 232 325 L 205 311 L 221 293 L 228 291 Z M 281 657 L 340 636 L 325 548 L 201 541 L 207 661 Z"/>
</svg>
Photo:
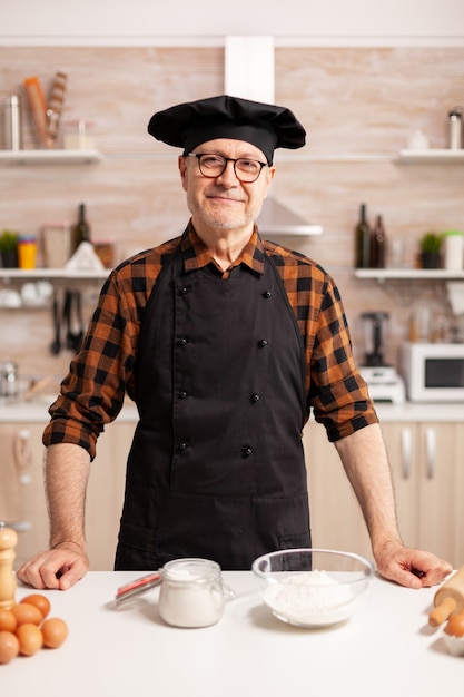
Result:
<svg viewBox="0 0 464 697">
<path fill-rule="evenodd" d="M 50 549 L 19 578 L 66 589 L 86 573 L 90 462 L 127 392 L 140 418 L 116 569 L 180 557 L 247 569 L 266 551 L 309 547 L 302 430 L 313 409 L 357 495 L 378 571 L 412 588 L 442 581 L 448 563 L 402 543 L 334 281 L 256 226 L 274 150 L 302 147 L 303 126 L 286 108 L 220 96 L 157 112 L 148 130 L 182 148 L 191 218 L 181 237 L 120 264 L 101 291 L 43 435 Z"/>
</svg>

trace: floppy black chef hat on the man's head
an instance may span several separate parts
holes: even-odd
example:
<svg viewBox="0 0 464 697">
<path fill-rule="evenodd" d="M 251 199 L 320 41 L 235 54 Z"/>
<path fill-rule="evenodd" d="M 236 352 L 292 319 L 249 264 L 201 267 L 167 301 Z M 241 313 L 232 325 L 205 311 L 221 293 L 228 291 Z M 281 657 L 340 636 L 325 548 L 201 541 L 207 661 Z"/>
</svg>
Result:
<svg viewBox="0 0 464 697">
<path fill-rule="evenodd" d="M 209 97 L 155 114 L 148 132 L 157 140 L 191 153 L 216 138 L 245 140 L 270 164 L 275 148 L 302 148 L 306 131 L 289 109 L 238 97 Z"/>
</svg>

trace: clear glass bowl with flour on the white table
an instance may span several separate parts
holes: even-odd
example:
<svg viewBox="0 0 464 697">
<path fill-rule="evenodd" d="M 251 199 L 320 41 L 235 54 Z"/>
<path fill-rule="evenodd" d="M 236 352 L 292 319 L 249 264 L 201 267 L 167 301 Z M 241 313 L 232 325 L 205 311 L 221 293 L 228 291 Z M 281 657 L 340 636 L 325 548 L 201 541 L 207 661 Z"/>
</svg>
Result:
<svg viewBox="0 0 464 697">
<path fill-rule="evenodd" d="M 273 615 L 298 627 L 347 620 L 374 575 L 367 559 L 329 549 L 286 549 L 255 559 L 261 597 Z"/>
</svg>

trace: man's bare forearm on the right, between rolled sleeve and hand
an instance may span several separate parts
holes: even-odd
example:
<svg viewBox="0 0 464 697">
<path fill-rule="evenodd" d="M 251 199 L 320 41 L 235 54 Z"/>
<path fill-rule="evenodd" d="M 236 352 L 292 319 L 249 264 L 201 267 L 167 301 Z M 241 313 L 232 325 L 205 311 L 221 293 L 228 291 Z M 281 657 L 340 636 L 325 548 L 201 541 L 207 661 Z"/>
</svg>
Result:
<svg viewBox="0 0 464 697">
<path fill-rule="evenodd" d="M 378 424 L 372 424 L 335 443 L 363 511 L 376 549 L 401 541 L 392 474 Z"/>
</svg>

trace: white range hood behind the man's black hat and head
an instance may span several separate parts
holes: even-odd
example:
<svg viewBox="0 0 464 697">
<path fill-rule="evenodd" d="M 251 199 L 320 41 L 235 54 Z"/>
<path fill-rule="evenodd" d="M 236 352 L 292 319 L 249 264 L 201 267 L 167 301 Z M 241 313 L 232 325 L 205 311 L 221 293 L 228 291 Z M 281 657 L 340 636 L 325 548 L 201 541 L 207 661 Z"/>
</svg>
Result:
<svg viewBox="0 0 464 697">
<path fill-rule="evenodd" d="M 225 40 L 225 94 L 266 104 L 274 98 L 274 39 L 267 36 L 228 36 Z M 320 235 L 314 225 L 268 196 L 257 224 L 264 236 Z"/>
</svg>

